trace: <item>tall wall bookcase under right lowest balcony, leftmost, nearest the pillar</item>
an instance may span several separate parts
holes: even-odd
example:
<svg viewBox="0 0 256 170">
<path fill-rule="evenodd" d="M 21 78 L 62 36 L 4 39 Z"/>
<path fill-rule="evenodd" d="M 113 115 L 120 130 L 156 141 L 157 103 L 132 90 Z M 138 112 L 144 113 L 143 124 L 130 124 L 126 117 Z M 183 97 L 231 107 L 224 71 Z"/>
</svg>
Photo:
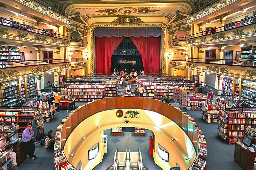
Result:
<svg viewBox="0 0 256 170">
<path fill-rule="evenodd" d="M 231 76 L 223 77 L 222 93 L 224 99 L 231 100 L 233 94 L 233 81 L 234 78 Z"/>
</svg>

